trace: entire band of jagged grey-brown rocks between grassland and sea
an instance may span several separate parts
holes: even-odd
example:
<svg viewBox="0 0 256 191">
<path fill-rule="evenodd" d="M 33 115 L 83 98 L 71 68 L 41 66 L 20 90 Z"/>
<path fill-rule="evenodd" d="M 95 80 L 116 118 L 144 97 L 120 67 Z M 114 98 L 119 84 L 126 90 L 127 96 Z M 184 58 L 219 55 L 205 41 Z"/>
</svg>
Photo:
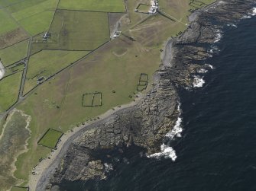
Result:
<svg viewBox="0 0 256 191">
<path fill-rule="evenodd" d="M 173 128 L 179 116 L 179 88 L 193 88 L 195 76 L 200 70 L 211 69 L 206 59 L 215 54 L 209 46 L 218 43 L 222 29 L 235 24 L 248 14 L 255 2 L 242 0 L 217 1 L 207 8 L 190 15 L 190 25 L 180 37 L 170 40 L 171 50 L 164 56 L 170 59 L 160 65 L 154 74 L 151 91 L 132 107 L 114 113 L 102 121 L 86 127 L 67 146 L 66 152 L 58 156 L 57 169 L 45 170 L 44 179 L 37 190 L 45 190 L 49 181 L 45 177 L 53 173 L 49 190 L 58 190 L 63 180 L 105 179 L 105 161 L 93 153 L 136 145 L 147 154 L 160 151 L 165 135 Z M 170 44 L 171 43 L 171 44 Z M 198 77 L 199 78 L 199 77 Z M 65 155 L 64 155 L 65 154 Z"/>
</svg>

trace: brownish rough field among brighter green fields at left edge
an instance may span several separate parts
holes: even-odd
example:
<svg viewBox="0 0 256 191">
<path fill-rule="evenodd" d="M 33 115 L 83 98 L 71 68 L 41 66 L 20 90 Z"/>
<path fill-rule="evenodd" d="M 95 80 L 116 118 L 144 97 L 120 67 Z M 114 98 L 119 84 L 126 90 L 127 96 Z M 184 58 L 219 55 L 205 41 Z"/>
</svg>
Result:
<svg viewBox="0 0 256 191">
<path fill-rule="evenodd" d="M 28 39 L 28 34 L 21 27 L 18 27 L 3 35 L 0 34 L 0 49 L 4 49 L 26 39 Z"/>
</svg>

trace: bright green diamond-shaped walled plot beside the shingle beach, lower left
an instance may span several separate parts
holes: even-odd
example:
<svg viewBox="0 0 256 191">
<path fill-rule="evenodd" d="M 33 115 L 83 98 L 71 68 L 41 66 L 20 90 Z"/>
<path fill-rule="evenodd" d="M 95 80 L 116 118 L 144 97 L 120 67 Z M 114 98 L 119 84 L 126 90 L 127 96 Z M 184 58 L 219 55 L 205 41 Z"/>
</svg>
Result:
<svg viewBox="0 0 256 191">
<path fill-rule="evenodd" d="M 59 132 L 54 129 L 48 129 L 43 137 L 39 140 L 39 142 L 37 142 L 37 144 L 47 148 L 56 148 L 57 143 L 59 142 L 59 139 L 62 135 L 63 132 Z"/>
</svg>

